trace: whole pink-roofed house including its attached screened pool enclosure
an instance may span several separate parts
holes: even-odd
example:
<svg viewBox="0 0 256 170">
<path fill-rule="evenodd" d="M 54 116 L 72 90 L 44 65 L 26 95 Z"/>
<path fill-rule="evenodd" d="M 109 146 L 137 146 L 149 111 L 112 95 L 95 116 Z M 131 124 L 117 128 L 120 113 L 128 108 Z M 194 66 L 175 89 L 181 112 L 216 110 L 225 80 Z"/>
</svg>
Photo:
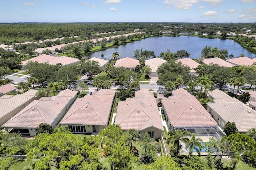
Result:
<svg viewBox="0 0 256 170">
<path fill-rule="evenodd" d="M 210 137 L 221 139 L 224 135 L 218 123 L 198 100 L 180 88 L 172 96 L 162 100 L 163 111 L 169 129 L 189 131 L 207 142 Z"/>
</svg>

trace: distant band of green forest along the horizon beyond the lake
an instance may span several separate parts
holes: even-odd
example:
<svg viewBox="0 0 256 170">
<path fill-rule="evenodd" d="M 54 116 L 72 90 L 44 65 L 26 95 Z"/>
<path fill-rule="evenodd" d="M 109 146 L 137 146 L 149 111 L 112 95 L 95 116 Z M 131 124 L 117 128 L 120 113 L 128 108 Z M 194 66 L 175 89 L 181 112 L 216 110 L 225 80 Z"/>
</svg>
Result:
<svg viewBox="0 0 256 170">
<path fill-rule="evenodd" d="M 0 23 L 0 44 L 12 45 L 26 41 L 36 42 L 45 39 L 71 37 L 78 35 L 78 40 L 88 40 L 114 35 L 122 35 L 140 29 L 145 33 L 173 31 L 175 34 L 207 33 L 216 31 L 256 33 L 256 23 L 167 23 L 167 22 L 102 22 L 102 23 Z M 99 33 L 108 33 L 100 34 Z"/>
</svg>

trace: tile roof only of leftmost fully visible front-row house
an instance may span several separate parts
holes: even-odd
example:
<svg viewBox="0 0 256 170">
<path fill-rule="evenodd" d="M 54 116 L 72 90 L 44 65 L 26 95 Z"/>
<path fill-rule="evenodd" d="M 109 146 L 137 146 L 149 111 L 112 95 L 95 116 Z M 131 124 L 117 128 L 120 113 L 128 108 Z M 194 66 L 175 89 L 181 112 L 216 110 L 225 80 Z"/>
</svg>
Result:
<svg viewBox="0 0 256 170">
<path fill-rule="evenodd" d="M 72 96 L 73 95 L 73 96 Z M 42 97 L 34 100 L 2 127 L 38 127 L 41 123 L 52 125 L 67 104 L 76 96 L 76 92 L 66 89 L 57 96 Z"/>
</svg>

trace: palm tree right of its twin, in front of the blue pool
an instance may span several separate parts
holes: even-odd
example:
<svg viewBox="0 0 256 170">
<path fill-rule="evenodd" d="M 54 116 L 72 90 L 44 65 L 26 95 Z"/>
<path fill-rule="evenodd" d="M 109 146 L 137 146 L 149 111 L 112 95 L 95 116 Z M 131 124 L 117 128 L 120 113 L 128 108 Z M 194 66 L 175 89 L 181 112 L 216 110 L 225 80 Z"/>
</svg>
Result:
<svg viewBox="0 0 256 170">
<path fill-rule="evenodd" d="M 201 138 L 196 138 L 196 135 L 194 133 L 191 134 L 191 139 L 187 141 L 186 143 L 186 149 L 189 149 L 189 155 L 192 155 L 193 150 L 196 150 L 198 155 L 201 154 L 202 149 L 202 142 L 203 140 Z"/>
</svg>

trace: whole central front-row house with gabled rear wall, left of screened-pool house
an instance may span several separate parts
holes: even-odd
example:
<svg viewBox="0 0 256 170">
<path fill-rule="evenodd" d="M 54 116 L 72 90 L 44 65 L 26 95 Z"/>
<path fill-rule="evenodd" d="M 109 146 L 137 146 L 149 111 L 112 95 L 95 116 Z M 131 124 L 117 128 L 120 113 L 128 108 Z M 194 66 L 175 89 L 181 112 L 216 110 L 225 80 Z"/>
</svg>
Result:
<svg viewBox="0 0 256 170">
<path fill-rule="evenodd" d="M 134 98 L 118 102 L 115 124 L 120 125 L 124 131 L 138 130 L 141 139 L 146 133 L 152 138 L 160 139 L 164 131 L 156 99 L 146 89 L 135 92 Z"/>
</svg>

